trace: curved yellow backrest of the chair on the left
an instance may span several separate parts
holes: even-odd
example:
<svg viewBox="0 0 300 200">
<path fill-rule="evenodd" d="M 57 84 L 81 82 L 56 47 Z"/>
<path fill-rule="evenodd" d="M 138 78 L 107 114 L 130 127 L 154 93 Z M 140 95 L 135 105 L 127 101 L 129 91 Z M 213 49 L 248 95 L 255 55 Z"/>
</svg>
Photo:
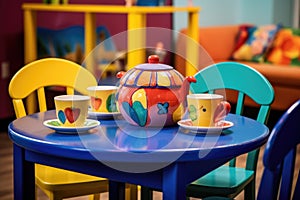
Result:
<svg viewBox="0 0 300 200">
<path fill-rule="evenodd" d="M 22 67 L 11 79 L 9 95 L 12 98 L 16 117 L 26 115 L 23 100 L 37 92 L 39 110 L 47 110 L 45 87 L 63 86 L 67 94 L 87 94 L 88 86 L 97 85 L 97 80 L 80 65 L 60 58 L 44 58 Z"/>
</svg>

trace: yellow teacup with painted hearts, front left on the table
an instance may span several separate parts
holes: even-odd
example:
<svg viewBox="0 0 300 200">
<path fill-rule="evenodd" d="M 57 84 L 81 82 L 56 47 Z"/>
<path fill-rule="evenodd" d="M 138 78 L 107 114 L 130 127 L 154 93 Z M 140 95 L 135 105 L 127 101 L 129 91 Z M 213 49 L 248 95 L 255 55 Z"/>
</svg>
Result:
<svg viewBox="0 0 300 200">
<path fill-rule="evenodd" d="M 56 117 L 62 127 L 82 127 L 88 116 L 90 97 L 60 95 L 54 97 Z"/>
</svg>

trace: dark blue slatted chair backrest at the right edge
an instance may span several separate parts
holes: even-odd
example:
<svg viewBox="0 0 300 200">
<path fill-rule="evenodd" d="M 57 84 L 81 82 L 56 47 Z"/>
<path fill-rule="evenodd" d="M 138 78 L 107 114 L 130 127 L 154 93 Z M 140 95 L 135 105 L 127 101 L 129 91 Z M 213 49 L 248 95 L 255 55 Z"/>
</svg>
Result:
<svg viewBox="0 0 300 200">
<path fill-rule="evenodd" d="M 300 100 L 279 119 L 268 139 L 264 156 L 264 172 L 258 199 L 300 199 L 299 172 L 295 172 L 297 145 L 300 144 Z M 298 165 L 299 170 L 299 165 Z M 298 173 L 297 180 L 293 178 Z"/>
</svg>

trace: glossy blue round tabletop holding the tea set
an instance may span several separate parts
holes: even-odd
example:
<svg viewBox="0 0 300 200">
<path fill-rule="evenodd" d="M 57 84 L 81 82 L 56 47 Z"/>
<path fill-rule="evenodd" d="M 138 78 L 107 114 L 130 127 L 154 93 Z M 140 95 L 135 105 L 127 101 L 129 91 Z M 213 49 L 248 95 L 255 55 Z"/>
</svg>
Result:
<svg viewBox="0 0 300 200">
<path fill-rule="evenodd" d="M 237 148 L 247 152 L 253 148 L 253 140 L 253 145 L 262 145 L 269 134 L 265 125 L 232 114 L 226 120 L 234 126 L 219 134 L 193 134 L 178 126 L 141 128 L 122 119 L 100 120 L 100 126 L 88 133 L 61 134 L 43 125 L 54 118 L 55 112 L 47 111 L 17 119 L 9 126 L 10 137 L 18 145 L 46 154 L 60 152 L 72 157 L 75 153 L 83 160 L 147 163 L 217 159 L 235 154 Z"/>
</svg>

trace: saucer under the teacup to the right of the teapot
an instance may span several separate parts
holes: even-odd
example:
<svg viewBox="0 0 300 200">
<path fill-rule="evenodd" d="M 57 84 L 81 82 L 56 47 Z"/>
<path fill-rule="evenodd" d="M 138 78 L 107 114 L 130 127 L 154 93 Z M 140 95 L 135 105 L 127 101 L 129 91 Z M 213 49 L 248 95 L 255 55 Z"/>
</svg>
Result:
<svg viewBox="0 0 300 200">
<path fill-rule="evenodd" d="M 193 126 L 191 119 L 180 120 L 177 124 L 193 133 L 220 133 L 222 130 L 228 129 L 233 126 L 230 121 L 220 121 L 217 126 L 205 127 L 205 126 Z"/>
</svg>

